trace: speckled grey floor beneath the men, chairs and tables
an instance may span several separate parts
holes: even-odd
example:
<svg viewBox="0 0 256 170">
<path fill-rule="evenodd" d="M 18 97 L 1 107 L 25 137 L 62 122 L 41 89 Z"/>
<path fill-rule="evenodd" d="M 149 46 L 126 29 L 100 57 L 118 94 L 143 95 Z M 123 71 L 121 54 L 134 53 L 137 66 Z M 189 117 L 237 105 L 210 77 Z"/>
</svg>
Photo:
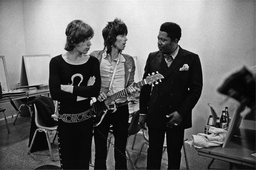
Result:
<svg viewBox="0 0 256 170">
<path fill-rule="evenodd" d="M 28 154 L 28 140 L 29 140 L 29 132 L 30 132 L 30 123 L 31 120 L 29 117 L 21 117 L 19 116 L 16 124 L 13 125 L 12 122 L 14 118 L 8 119 L 8 124 L 11 133 L 7 133 L 7 128 L 5 126 L 5 122 L 3 120 L 0 121 L 0 169 L 1 170 L 35 170 L 38 167 L 43 165 L 55 165 L 60 167 L 59 153 L 58 153 L 58 142 L 55 141 L 52 144 L 54 161 L 50 160 L 49 150 L 43 150 Z M 52 139 L 54 134 L 50 134 L 50 138 Z M 140 149 L 141 144 L 144 142 L 142 133 L 139 132 L 134 149 L 132 149 L 133 137 L 129 140 L 128 148 L 131 154 L 131 162 L 134 162 L 135 158 L 137 158 L 137 153 Z M 132 166 L 132 163 L 127 162 L 128 169 L 140 169 L 146 170 L 146 146 L 142 151 L 142 155 L 139 157 L 138 162 L 136 163 L 136 167 Z M 185 144 L 186 155 L 188 159 L 189 169 L 191 170 L 205 170 L 207 169 L 207 165 L 211 161 L 211 158 L 198 156 L 195 148 L 190 147 L 188 144 Z M 92 145 L 92 155 L 94 155 L 94 142 Z M 92 164 L 93 164 L 92 157 Z M 58 168 L 57 167 L 57 168 Z M 54 169 L 54 166 L 48 167 L 49 169 Z M 247 169 L 248 167 L 235 167 L 233 169 Z M 107 158 L 107 169 L 114 169 L 114 158 L 113 158 L 113 147 L 110 146 L 110 151 Z M 162 167 L 161 169 L 167 169 L 167 153 L 166 151 L 163 153 L 162 158 Z M 184 160 L 184 153 L 182 150 L 182 162 L 181 162 L 181 170 L 186 169 L 186 164 Z M 215 160 L 211 165 L 210 169 L 229 169 L 229 163 L 221 160 Z M 90 170 L 93 170 L 93 167 L 90 167 Z"/>
</svg>

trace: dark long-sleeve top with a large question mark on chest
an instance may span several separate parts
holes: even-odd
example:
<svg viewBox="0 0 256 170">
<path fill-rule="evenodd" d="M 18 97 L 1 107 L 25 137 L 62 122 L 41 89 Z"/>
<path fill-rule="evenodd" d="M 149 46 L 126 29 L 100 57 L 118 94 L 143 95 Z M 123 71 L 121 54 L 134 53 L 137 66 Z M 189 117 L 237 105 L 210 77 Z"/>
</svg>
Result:
<svg viewBox="0 0 256 170">
<path fill-rule="evenodd" d="M 90 77 L 95 76 L 94 85 L 87 86 Z M 61 85 L 73 85 L 73 93 L 61 90 Z M 90 56 L 88 61 L 73 65 L 64 61 L 61 55 L 53 57 L 49 64 L 49 90 L 53 100 L 58 100 L 59 113 L 79 113 L 90 107 L 91 97 L 98 97 L 101 85 L 99 61 Z M 88 99 L 77 101 L 77 96 Z"/>
</svg>

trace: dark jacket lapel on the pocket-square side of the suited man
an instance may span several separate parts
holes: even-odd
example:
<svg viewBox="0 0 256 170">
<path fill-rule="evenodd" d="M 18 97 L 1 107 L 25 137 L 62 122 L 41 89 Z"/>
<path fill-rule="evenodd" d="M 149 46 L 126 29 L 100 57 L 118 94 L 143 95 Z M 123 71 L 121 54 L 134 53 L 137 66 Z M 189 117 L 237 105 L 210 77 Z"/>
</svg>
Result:
<svg viewBox="0 0 256 170">
<path fill-rule="evenodd" d="M 167 72 L 165 73 L 164 77 L 166 78 L 176 69 L 180 69 L 182 66 L 183 61 L 185 60 L 183 55 L 183 49 L 180 47 L 179 52 L 175 59 L 172 61 L 171 66 L 168 68 Z"/>
</svg>

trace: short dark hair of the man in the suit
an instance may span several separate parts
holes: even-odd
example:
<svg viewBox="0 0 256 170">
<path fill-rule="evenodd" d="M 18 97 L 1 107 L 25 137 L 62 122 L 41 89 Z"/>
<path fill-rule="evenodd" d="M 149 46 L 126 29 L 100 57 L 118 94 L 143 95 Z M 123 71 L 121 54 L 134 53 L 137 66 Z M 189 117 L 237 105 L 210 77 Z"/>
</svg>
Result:
<svg viewBox="0 0 256 170">
<path fill-rule="evenodd" d="M 171 41 L 174 39 L 178 39 L 179 41 L 182 36 L 182 29 L 180 25 L 171 22 L 161 24 L 160 31 L 166 32 L 167 36 L 171 38 Z"/>
</svg>

